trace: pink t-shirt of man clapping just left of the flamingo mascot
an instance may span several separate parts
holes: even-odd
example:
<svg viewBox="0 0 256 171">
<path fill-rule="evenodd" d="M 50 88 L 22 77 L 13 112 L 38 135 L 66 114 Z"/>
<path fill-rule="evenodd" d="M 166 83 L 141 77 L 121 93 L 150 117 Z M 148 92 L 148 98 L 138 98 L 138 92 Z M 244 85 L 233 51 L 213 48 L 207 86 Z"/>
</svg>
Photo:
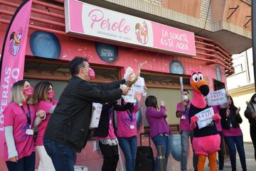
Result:
<svg viewBox="0 0 256 171">
<path fill-rule="evenodd" d="M 191 101 L 188 101 L 188 105 L 191 105 Z M 181 102 L 179 102 L 177 104 L 176 111 L 181 111 L 181 108 L 182 108 L 182 104 L 181 104 Z M 189 112 L 189 109 L 186 109 L 182 113 L 183 116 L 181 116 L 181 119 L 180 119 L 181 131 L 192 131 L 193 130 L 193 127 L 189 123 L 188 112 Z"/>
</svg>

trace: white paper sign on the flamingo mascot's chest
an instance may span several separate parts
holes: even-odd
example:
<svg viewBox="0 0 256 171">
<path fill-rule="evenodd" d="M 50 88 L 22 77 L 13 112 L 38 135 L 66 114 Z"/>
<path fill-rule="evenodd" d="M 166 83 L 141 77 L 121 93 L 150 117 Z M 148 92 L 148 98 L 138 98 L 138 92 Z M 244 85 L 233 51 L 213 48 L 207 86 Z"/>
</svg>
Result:
<svg viewBox="0 0 256 171">
<path fill-rule="evenodd" d="M 198 121 L 197 121 L 198 128 L 201 129 L 203 127 L 208 126 L 213 121 L 213 118 L 212 118 L 213 115 L 214 115 L 214 111 L 212 107 L 205 109 L 199 112 L 198 114 L 196 114 L 195 116 L 198 116 Z"/>
</svg>

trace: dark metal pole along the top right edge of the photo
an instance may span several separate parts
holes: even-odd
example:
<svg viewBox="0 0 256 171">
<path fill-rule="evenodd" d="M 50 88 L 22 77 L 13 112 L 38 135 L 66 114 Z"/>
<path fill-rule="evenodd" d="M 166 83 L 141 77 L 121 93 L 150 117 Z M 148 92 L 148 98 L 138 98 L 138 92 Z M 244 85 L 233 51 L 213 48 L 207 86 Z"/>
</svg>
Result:
<svg viewBox="0 0 256 171">
<path fill-rule="evenodd" d="M 252 1 L 252 58 L 256 92 L 256 1 Z"/>
</svg>

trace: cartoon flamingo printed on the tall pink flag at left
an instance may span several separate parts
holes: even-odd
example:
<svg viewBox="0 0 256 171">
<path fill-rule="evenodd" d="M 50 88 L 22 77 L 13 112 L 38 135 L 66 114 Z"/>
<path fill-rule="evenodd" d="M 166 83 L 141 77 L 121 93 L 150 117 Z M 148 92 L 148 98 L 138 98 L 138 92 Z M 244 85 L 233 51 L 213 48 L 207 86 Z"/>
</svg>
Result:
<svg viewBox="0 0 256 171">
<path fill-rule="evenodd" d="M 9 53 L 16 56 L 21 46 L 22 28 L 18 30 L 18 34 L 14 31 L 10 35 Z"/>
</svg>

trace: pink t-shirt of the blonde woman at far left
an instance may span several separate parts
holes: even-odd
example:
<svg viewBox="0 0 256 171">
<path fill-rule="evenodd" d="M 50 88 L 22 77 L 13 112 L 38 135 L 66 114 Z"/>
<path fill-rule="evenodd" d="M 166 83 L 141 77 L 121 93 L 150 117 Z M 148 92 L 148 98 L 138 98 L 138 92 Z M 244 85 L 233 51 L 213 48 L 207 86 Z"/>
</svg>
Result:
<svg viewBox="0 0 256 171">
<path fill-rule="evenodd" d="M 26 134 L 26 129 L 29 128 L 28 119 L 26 114 L 28 114 L 27 104 L 23 104 L 23 109 L 18 106 L 15 102 L 11 102 L 4 110 L 4 126 L 13 126 L 14 131 L 14 143 L 16 150 L 18 152 L 18 159 L 31 155 L 34 148 L 33 136 Z M 36 109 L 33 105 L 29 104 L 30 116 L 31 116 L 31 126 L 33 127 L 33 122 L 36 118 Z M 6 141 L 4 140 L 4 153 L 5 160 L 9 161 L 8 158 L 8 148 Z"/>
</svg>

